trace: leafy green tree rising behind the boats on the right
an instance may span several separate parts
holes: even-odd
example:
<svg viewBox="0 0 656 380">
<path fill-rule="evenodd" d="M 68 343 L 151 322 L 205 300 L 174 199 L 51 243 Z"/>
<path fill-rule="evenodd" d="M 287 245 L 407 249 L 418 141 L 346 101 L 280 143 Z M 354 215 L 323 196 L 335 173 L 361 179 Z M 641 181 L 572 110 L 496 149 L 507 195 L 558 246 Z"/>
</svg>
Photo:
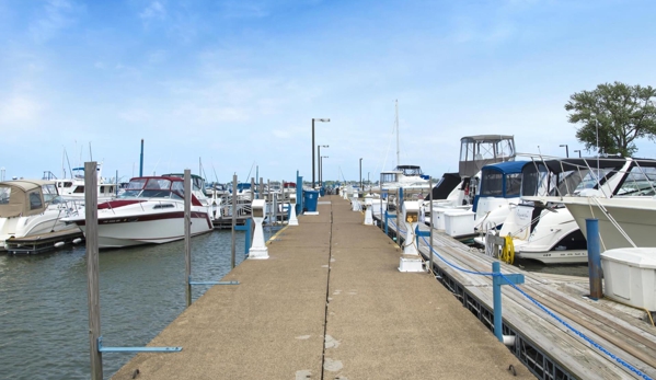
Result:
<svg viewBox="0 0 656 380">
<path fill-rule="evenodd" d="M 656 139 L 656 106 L 652 87 L 626 85 L 621 82 L 597 85 L 592 91 L 577 92 L 569 96 L 565 110 L 567 122 L 582 124 L 576 138 L 586 150 L 597 147 L 603 153 L 631 157 L 637 151 L 634 140 L 646 137 Z"/>
</svg>

